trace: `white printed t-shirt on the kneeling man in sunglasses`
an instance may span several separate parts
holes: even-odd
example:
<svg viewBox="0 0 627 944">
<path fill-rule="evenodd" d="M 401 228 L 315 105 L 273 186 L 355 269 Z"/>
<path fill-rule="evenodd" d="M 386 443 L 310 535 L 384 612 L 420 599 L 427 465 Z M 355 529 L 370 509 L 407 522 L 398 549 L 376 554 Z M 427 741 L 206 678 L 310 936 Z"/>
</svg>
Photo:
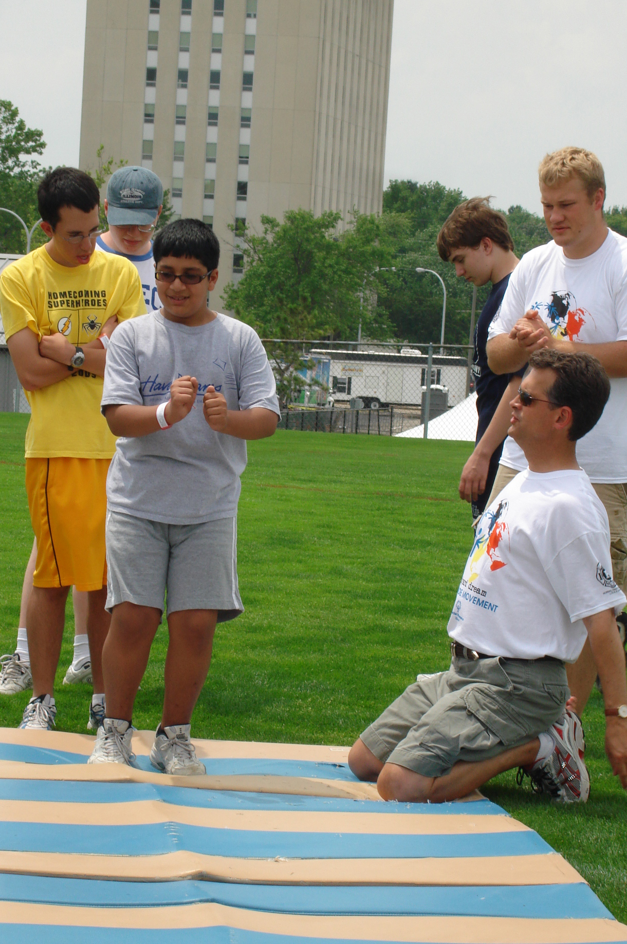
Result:
<svg viewBox="0 0 627 944">
<path fill-rule="evenodd" d="M 585 472 L 526 469 L 483 512 L 448 632 L 487 655 L 575 662 L 584 617 L 625 602 L 607 514 Z"/>
</svg>

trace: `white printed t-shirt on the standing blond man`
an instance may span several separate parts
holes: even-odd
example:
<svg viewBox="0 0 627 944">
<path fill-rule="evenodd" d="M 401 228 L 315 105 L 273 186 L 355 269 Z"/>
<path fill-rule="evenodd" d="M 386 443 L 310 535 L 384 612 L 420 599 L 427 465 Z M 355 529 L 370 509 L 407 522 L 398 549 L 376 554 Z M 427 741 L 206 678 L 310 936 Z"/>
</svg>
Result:
<svg viewBox="0 0 627 944">
<path fill-rule="evenodd" d="M 611 229 L 601 248 L 568 259 L 551 242 L 526 253 L 512 273 L 500 312 L 488 332 L 509 334 L 534 309 L 560 340 L 598 345 L 627 340 L 627 239 Z M 577 461 L 591 481 L 627 481 L 627 378 L 613 377 L 597 425 L 577 443 Z M 527 468 L 522 449 L 508 436 L 500 462 Z"/>
</svg>

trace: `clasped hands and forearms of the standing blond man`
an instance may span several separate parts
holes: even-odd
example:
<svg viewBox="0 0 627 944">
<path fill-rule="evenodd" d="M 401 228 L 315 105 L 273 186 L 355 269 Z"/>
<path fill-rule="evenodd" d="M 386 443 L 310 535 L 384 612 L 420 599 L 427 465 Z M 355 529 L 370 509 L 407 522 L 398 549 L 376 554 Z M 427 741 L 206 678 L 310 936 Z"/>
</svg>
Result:
<svg viewBox="0 0 627 944">
<path fill-rule="evenodd" d="M 611 341 L 600 345 L 580 344 L 554 338 L 538 312 L 530 310 L 519 318 L 509 334 L 498 334 L 487 343 L 487 362 L 495 374 L 519 370 L 536 350 L 555 350 L 592 354 L 602 362 L 608 377 L 627 377 L 627 341 Z"/>
</svg>

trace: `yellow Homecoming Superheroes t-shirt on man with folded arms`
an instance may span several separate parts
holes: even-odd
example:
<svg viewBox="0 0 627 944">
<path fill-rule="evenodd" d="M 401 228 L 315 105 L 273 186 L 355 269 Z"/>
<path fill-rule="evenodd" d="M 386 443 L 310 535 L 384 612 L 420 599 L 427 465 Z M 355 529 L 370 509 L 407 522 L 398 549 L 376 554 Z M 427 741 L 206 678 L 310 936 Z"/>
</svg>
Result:
<svg viewBox="0 0 627 944">
<path fill-rule="evenodd" d="M 8 265 L 0 275 L 0 313 L 7 338 L 29 328 L 41 339 L 60 331 L 73 345 L 94 341 L 105 321 L 145 313 L 137 269 L 123 256 L 94 252 L 87 265 L 59 265 L 45 246 Z M 31 417 L 26 459 L 75 456 L 110 459 L 115 437 L 100 413 L 101 377 L 68 372 L 26 393 Z"/>
</svg>

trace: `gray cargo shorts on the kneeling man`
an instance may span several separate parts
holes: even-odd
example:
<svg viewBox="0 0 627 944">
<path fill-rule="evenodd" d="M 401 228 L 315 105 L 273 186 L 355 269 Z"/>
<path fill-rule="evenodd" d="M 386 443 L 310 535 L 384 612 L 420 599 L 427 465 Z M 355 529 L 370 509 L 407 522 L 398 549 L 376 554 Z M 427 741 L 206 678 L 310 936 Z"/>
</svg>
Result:
<svg viewBox="0 0 627 944">
<path fill-rule="evenodd" d="M 568 695 L 557 659 L 453 658 L 448 672 L 418 676 L 362 740 L 383 763 L 441 777 L 527 744 L 564 715 Z"/>
</svg>

